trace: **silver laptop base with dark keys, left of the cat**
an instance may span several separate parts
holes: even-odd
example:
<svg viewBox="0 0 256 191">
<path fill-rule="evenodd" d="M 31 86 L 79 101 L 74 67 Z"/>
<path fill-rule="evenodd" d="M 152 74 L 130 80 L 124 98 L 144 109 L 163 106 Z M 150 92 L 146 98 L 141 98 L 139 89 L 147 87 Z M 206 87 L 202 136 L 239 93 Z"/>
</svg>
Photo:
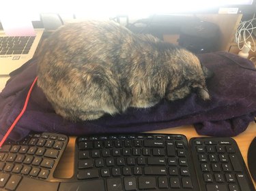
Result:
<svg viewBox="0 0 256 191">
<path fill-rule="evenodd" d="M 35 36 L 8 37 L 0 31 L 0 75 L 9 75 L 33 57 L 44 29 L 35 29 Z"/>
</svg>

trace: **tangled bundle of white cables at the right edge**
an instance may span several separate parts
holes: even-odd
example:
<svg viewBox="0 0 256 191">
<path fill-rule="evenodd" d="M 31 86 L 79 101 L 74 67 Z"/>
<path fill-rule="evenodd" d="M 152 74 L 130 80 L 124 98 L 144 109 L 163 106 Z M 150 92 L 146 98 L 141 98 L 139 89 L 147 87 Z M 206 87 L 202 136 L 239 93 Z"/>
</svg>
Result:
<svg viewBox="0 0 256 191">
<path fill-rule="evenodd" d="M 253 15 L 253 18 L 250 20 L 246 20 L 243 22 L 240 22 L 238 29 L 236 30 L 236 42 L 238 44 L 239 50 L 242 50 L 243 45 L 246 44 L 246 46 L 249 46 L 248 44 L 248 39 L 251 41 L 251 48 L 250 50 L 252 52 L 256 51 L 256 44 L 255 44 L 255 39 L 253 37 L 253 30 L 256 30 L 256 26 L 253 26 L 253 21 L 256 20 L 255 14 Z M 244 43 L 244 44 L 242 44 Z M 242 44 L 242 46 L 241 46 Z"/>
</svg>

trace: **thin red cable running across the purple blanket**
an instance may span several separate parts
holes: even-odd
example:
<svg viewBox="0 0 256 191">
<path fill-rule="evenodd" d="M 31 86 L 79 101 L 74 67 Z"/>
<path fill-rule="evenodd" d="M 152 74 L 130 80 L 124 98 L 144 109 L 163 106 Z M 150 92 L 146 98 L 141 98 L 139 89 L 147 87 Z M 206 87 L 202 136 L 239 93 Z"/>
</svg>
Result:
<svg viewBox="0 0 256 191">
<path fill-rule="evenodd" d="M 5 133 L 5 136 L 3 137 L 3 139 L 0 142 L 0 147 L 3 145 L 3 143 L 5 142 L 5 140 L 8 138 L 8 136 L 10 135 L 10 133 L 12 132 L 12 129 L 14 128 L 14 126 L 17 124 L 18 120 L 20 120 L 20 118 L 23 116 L 24 112 L 26 111 L 27 108 L 27 103 L 29 102 L 29 97 L 30 94 L 33 90 L 33 86 L 35 86 L 35 82 L 38 80 L 38 77 L 35 77 L 35 80 L 33 80 L 33 84 L 31 85 L 29 92 L 27 93 L 27 97 L 23 106 L 23 109 L 20 111 L 20 114 L 18 114 L 17 118 L 14 120 L 14 122 L 12 123 L 12 125 L 9 127 L 8 131 Z"/>
</svg>

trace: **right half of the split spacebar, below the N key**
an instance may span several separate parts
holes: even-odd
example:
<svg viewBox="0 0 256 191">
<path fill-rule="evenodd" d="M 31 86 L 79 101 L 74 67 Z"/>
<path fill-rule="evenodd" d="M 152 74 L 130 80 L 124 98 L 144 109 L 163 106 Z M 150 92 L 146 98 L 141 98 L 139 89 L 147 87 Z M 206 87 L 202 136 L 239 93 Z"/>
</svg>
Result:
<svg viewBox="0 0 256 191">
<path fill-rule="evenodd" d="M 89 181 L 63 182 L 58 191 L 104 191 L 104 180 L 95 179 Z M 48 191 L 48 190 L 47 190 Z"/>
</svg>

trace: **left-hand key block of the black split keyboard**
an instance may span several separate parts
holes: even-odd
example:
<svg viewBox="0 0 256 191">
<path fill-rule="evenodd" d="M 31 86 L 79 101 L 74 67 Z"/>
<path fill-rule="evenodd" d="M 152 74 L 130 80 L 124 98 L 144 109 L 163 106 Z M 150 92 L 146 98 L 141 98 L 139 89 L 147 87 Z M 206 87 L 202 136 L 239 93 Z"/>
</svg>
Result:
<svg viewBox="0 0 256 191">
<path fill-rule="evenodd" d="M 30 184 L 53 181 L 67 144 L 66 135 L 54 133 L 31 134 L 23 141 L 5 143 L 0 147 L 0 190 L 28 190 Z"/>
</svg>

